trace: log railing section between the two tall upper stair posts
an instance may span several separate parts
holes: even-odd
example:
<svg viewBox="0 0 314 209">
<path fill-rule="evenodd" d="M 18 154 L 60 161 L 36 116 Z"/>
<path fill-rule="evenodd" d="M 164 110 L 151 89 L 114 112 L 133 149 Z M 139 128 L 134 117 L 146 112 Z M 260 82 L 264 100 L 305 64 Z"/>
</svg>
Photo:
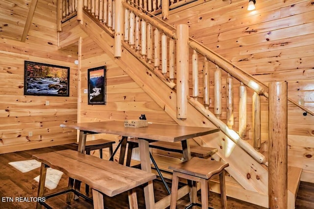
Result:
<svg viewBox="0 0 314 209">
<path fill-rule="evenodd" d="M 175 33 L 148 15 L 123 2 L 122 45 L 171 89 L 175 88 Z"/>
</svg>

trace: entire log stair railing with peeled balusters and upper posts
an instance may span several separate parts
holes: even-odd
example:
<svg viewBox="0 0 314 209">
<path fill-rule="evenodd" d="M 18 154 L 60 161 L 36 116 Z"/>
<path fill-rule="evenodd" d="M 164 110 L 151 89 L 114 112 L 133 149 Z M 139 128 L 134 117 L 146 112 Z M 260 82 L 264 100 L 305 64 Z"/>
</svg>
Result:
<svg viewBox="0 0 314 209">
<path fill-rule="evenodd" d="M 77 12 L 78 20 L 81 20 L 79 8 L 84 7 L 107 28 L 107 31 L 109 31 L 108 28 L 113 31 L 115 23 L 117 24 L 117 31 L 115 31 L 115 41 L 117 40 L 115 42 L 115 56 L 121 56 L 121 46 L 123 46 L 171 89 L 177 89 L 178 118 L 186 118 L 186 103 L 189 102 L 257 162 L 267 165 L 265 157 L 258 152 L 261 148 L 262 138 L 260 96 L 269 97 L 268 87 L 265 84 L 252 75 L 245 73 L 206 46 L 192 38 L 185 37 L 188 34 L 186 26 L 178 25 L 178 34 L 176 34 L 173 32 L 175 28 L 171 25 L 157 20 L 151 13 L 147 15 L 148 12 L 145 9 L 152 6 L 147 1 L 146 3 L 141 1 L 141 4 L 141 2 L 135 0 L 128 2 L 121 0 L 84 0 L 81 7 L 78 6 L 76 10 L 68 9 L 67 6 L 70 6 L 69 0 L 65 1 L 68 3 L 63 3 L 62 1 L 62 9 L 58 9 L 58 13 L 61 12 L 63 14 L 65 10 L 65 14 L 71 16 L 73 13 L 70 14 L 70 11 Z M 117 2 L 115 3 L 115 1 Z M 81 3 L 81 1 L 79 2 Z M 158 1 L 156 2 L 158 3 Z M 59 1 L 58 5 L 60 5 Z M 66 5 L 66 7 L 63 5 Z M 73 8 L 73 3 L 71 8 Z M 119 14 L 116 19 L 115 13 Z M 122 17 L 123 20 L 121 20 Z M 182 32 L 179 33 L 179 31 Z M 190 78 L 188 78 L 188 60 L 191 60 L 192 77 Z M 200 66 L 203 67 L 200 68 Z M 199 85 L 200 74 L 203 77 L 201 87 Z M 210 93 L 210 86 L 212 86 L 209 82 L 211 79 L 210 75 L 213 75 L 211 76 L 214 83 L 213 93 Z M 224 78 L 226 79 L 226 102 L 222 102 L 222 81 Z M 190 92 L 188 91 L 188 80 L 192 83 Z M 235 80 L 239 84 L 239 87 L 236 88 L 239 95 L 239 122 L 237 130 L 233 130 L 235 128 L 233 104 Z M 246 140 L 243 140 L 247 137 L 247 87 L 254 92 L 252 96 L 254 148 Z M 203 98 L 199 95 L 200 93 Z M 288 100 L 307 113 L 314 115 L 314 113 L 298 103 L 291 99 Z M 223 107 L 222 104 L 226 104 L 226 106 Z M 210 108 L 213 108 L 213 110 L 209 110 Z M 223 111 L 224 109 L 226 111 Z M 226 117 L 224 118 L 223 112 L 226 112 Z"/>
</svg>

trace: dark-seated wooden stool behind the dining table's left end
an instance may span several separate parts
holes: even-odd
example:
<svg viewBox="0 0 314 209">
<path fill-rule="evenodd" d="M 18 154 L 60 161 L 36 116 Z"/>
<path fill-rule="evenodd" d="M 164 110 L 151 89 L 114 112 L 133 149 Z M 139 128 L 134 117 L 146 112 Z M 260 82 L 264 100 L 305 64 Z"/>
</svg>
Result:
<svg viewBox="0 0 314 209">
<path fill-rule="evenodd" d="M 86 155 L 90 155 L 90 151 L 99 149 L 99 155 L 100 158 L 103 159 L 103 149 L 109 148 L 109 156 L 113 153 L 112 144 L 114 144 L 115 141 L 110 141 L 107 139 L 97 139 L 92 141 L 86 141 L 85 144 L 85 152 Z M 75 143 L 76 150 L 78 150 L 78 142 Z M 89 194 L 89 186 L 85 185 L 85 192 L 88 195 Z"/>
</svg>

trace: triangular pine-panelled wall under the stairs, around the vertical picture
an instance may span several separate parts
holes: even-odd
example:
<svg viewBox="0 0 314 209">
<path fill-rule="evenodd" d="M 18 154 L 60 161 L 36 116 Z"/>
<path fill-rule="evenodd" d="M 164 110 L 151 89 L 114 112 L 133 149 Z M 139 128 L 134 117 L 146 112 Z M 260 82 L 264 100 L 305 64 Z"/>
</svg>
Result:
<svg viewBox="0 0 314 209">
<path fill-rule="evenodd" d="M 91 39 L 84 38 L 81 47 L 79 121 L 124 121 L 137 119 L 141 114 L 145 114 L 150 122 L 176 123 Z M 104 65 L 106 104 L 88 105 L 87 94 L 83 93 L 84 89 L 87 89 L 87 70 Z"/>
</svg>

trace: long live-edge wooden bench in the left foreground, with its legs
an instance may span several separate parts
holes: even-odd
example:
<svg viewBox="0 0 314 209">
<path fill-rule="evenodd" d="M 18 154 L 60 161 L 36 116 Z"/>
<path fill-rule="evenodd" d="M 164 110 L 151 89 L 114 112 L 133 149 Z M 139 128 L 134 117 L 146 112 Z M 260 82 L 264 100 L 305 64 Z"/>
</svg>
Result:
<svg viewBox="0 0 314 209">
<path fill-rule="evenodd" d="M 35 154 L 33 159 L 41 162 L 38 197 L 48 199 L 59 194 L 74 192 L 85 199 L 86 196 L 80 194 L 73 188 L 73 180 L 88 184 L 93 191 L 94 208 L 104 208 L 103 194 L 112 197 L 122 192 L 129 192 L 130 208 L 137 208 L 137 197 L 135 187 L 143 185 L 156 178 L 155 174 L 127 167 L 112 161 L 103 160 L 95 156 L 84 155 L 74 150 L 62 150 L 57 152 Z M 44 194 L 47 167 L 60 170 L 69 178 L 69 186 L 60 191 Z M 67 197 L 70 203 L 71 195 Z M 38 202 L 36 208 L 41 205 L 49 207 L 44 201 Z"/>
</svg>

